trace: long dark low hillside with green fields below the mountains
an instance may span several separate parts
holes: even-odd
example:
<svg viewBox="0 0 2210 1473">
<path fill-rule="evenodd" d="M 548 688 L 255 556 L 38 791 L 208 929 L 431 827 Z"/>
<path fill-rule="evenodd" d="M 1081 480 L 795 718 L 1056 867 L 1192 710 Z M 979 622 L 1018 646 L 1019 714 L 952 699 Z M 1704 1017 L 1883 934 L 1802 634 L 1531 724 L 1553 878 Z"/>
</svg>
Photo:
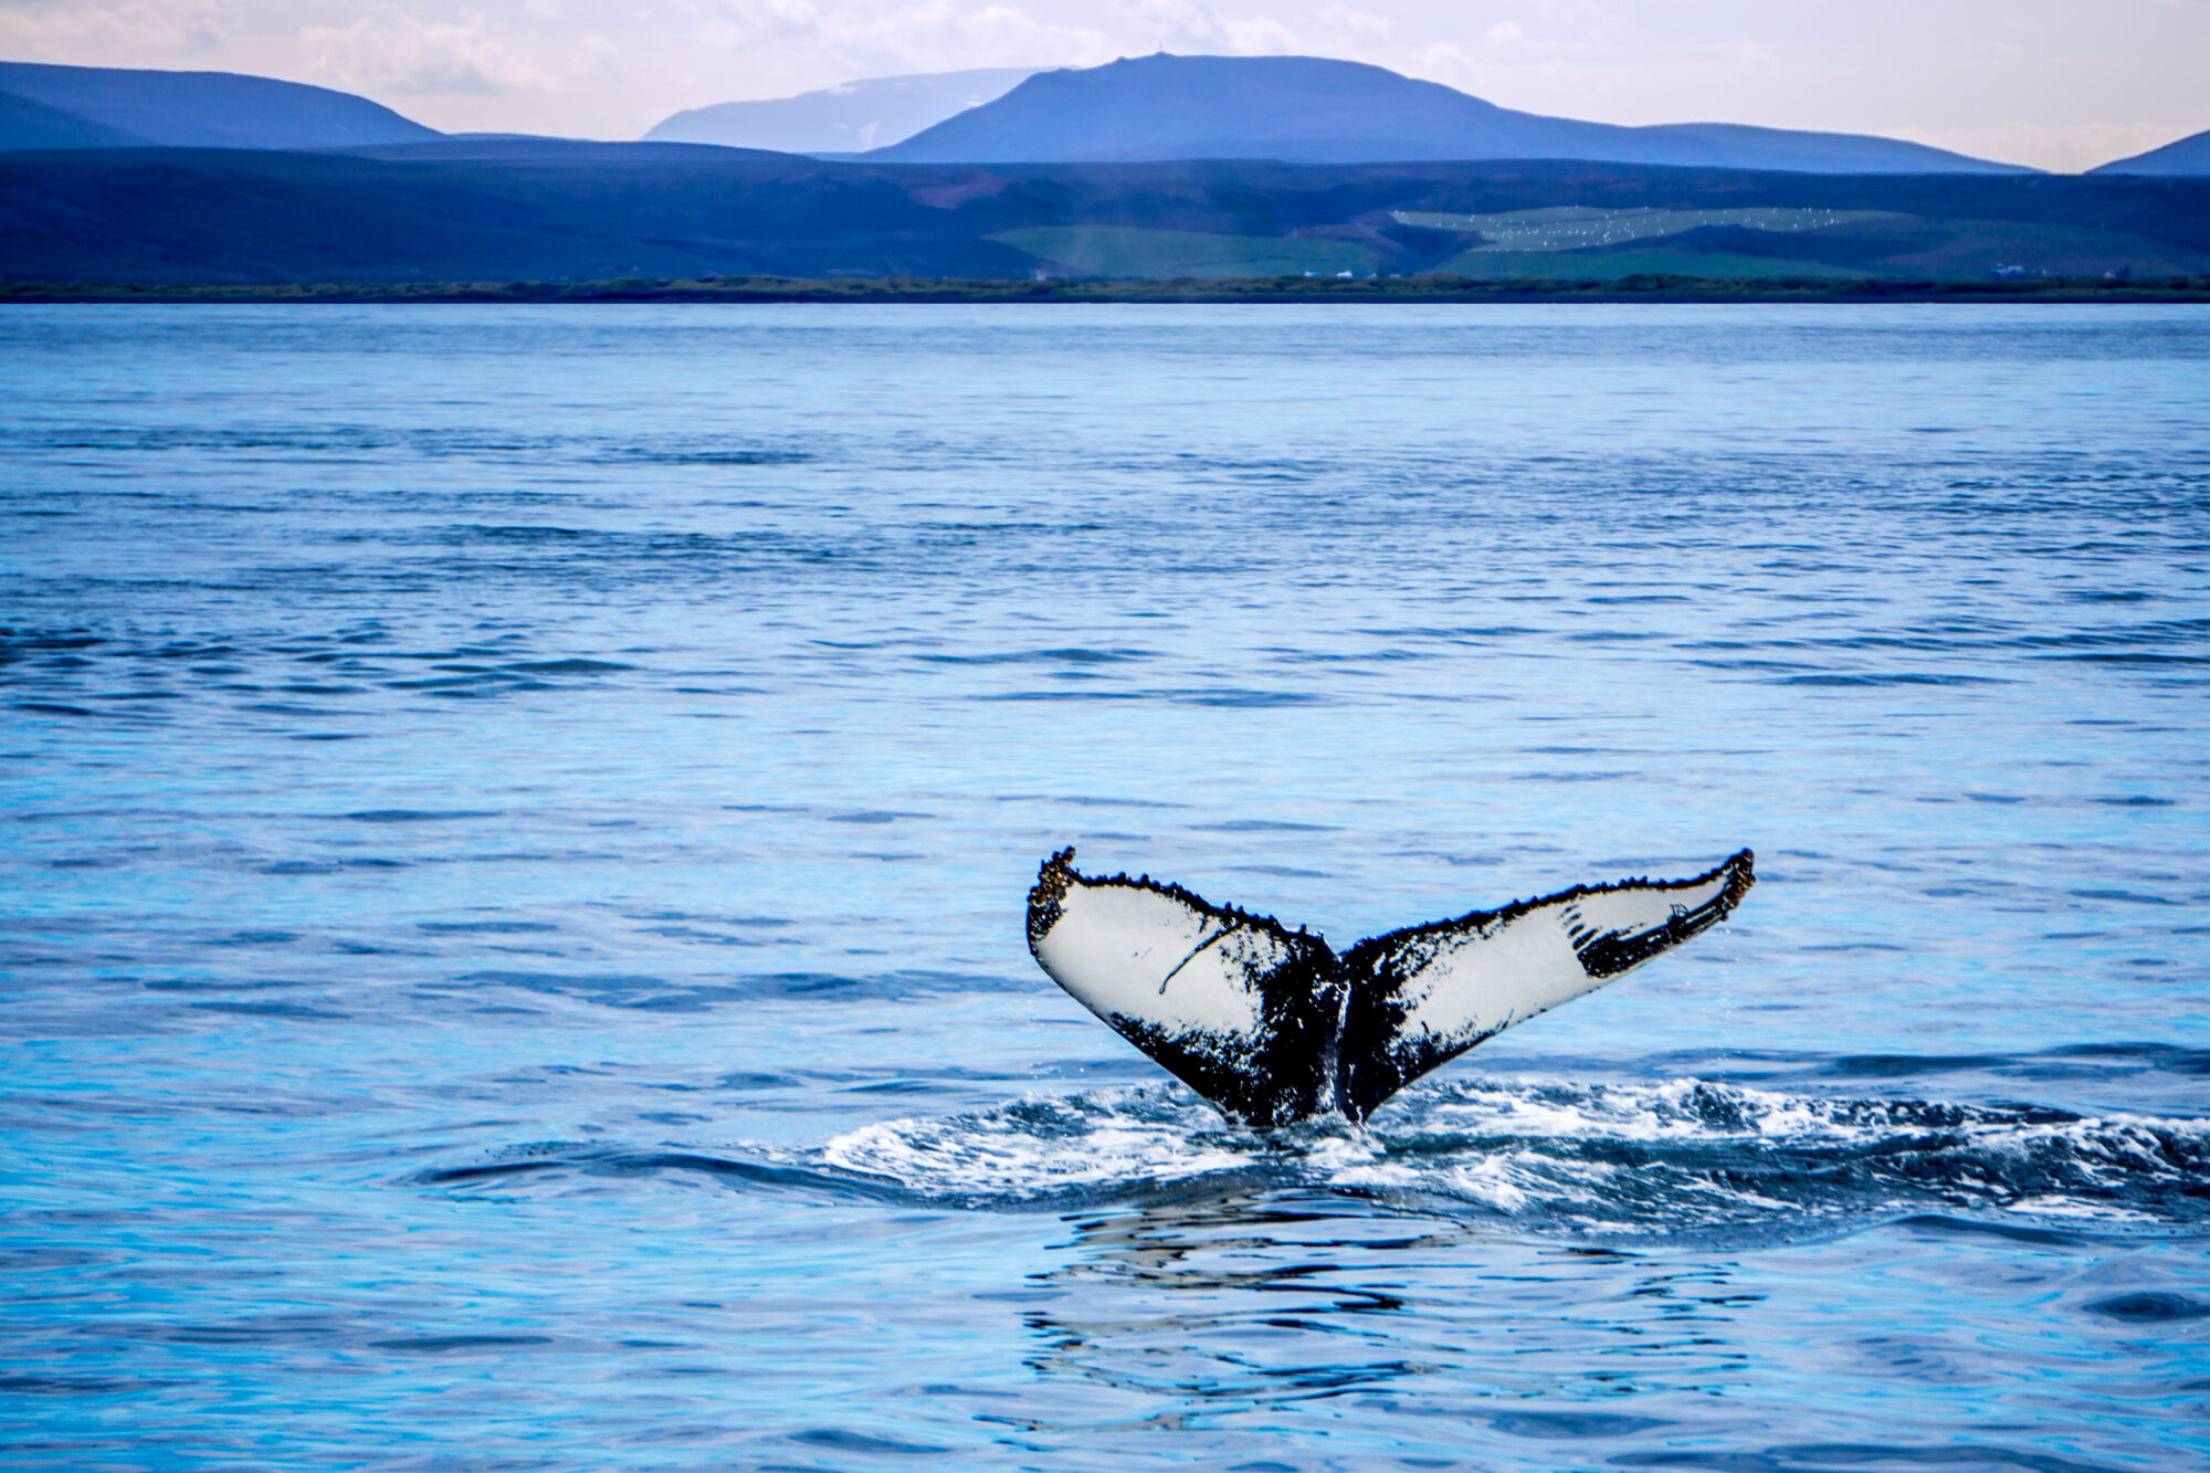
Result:
<svg viewBox="0 0 2210 1473">
<path fill-rule="evenodd" d="M 1463 276 L 1505 294 L 1560 281 L 1587 294 L 1682 276 L 1730 294 L 1861 294 L 2210 276 L 2210 179 L 2139 175 L 1571 159 L 972 166 L 451 142 L 13 153 L 0 155 L 0 281 L 18 290 L 771 276 L 1059 294 L 1264 279 L 1273 294 L 1381 296 L 1419 290 L 1390 279 Z"/>
</svg>

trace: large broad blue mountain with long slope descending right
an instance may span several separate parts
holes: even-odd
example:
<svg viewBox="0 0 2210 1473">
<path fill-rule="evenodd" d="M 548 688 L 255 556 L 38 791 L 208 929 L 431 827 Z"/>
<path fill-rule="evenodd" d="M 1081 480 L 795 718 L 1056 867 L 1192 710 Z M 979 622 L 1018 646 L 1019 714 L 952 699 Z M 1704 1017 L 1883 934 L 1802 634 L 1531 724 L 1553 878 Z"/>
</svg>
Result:
<svg viewBox="0 0 2210 1473">
<path fill-rule="evenodd" d="M 1147 55 L 1043 71 L 997 102 L 875 148 L 897 164 L 1596 159 L 1821 175 L 2033 173 L 1852 133 L 1622 128 L 1514 113 L 1439 82 L 1311 55 Z"/>
</svg>

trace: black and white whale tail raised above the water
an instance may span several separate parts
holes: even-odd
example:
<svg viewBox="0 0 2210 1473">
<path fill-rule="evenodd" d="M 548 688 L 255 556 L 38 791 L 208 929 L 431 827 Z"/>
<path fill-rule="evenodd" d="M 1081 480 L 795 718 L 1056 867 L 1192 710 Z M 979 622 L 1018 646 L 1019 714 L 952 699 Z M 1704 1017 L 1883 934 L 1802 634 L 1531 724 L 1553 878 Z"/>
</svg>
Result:
<svg viewBox="0 0 2210 1473">
<path fill-rule="evenodd" d="M 1149 876 L 1043 860 L 1028 949 L 1052 982 L 1231 1119 L 1353 1121 L 1516 1022 L 1706 931 L 1755 885 L 1744 849 L 1693 880 L 1576 885 L 1337 955 L 1273 916 Z"/>
</svg>

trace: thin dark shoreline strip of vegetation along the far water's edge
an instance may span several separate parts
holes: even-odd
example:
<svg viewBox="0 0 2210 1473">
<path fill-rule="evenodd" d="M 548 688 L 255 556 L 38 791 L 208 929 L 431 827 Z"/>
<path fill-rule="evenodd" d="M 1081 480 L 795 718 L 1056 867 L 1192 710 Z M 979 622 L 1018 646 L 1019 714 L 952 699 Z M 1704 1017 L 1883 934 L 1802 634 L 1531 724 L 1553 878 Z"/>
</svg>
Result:
<svg viewBox="0 0 2210 1473">
<path fill-rule="evenodd" d="M 1669 276 L 1618 281 L 1551 276 L 1240 276 L 1178 281 L 992 281 L 939 276 L 703 276 L 606 281 L 400 283 L 106 283 L 0 281 L 7 303 L 1514 303 L 1514 301 L 1969 301 L 1969 303 L 2210 303 L 2210 276 L 2029 276 L 2000 281 L 1892 281 L 1817 276 Z"/>
</svg>

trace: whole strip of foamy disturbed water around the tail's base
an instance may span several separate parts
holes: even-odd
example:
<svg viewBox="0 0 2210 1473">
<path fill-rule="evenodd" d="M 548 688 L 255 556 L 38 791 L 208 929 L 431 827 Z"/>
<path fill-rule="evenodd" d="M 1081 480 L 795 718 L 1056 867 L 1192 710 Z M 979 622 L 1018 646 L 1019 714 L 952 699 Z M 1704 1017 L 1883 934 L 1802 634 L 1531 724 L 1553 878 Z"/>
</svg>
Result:
<svg viewBox="0 0 2210 1473">
<path fill-rule="evenodd" d="M 701 1172 L 736 1190 L 979 1210 L 1319 1190 L 1574 1236 L 1799 1236 L 1912 1214 L 2210 1225 L 2210 1121 L 1664 1084 L 1461 1082 L 1366 1128 L 1251 1132 L 1174 1086 L 893 1119 L 804 1150 L 517 1148 L 438 1185 Z"/>
</svg>

